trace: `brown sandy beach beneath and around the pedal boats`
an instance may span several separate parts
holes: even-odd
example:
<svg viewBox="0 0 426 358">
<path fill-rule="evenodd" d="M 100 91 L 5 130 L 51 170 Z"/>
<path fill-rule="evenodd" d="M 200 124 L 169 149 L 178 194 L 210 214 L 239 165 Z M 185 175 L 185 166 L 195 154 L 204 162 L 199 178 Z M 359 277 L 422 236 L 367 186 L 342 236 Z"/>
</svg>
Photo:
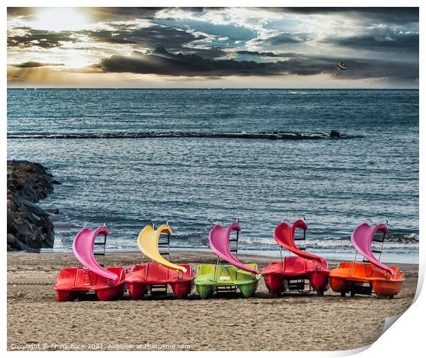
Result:
<svg viewBox="0 0 426 358">
<path fill-rule="evenodd" d="M 271 261 L 265 256 L 239 258 L 260 268 Z M 179 252 L 170 259 L 193 267 L 215 262 L 215 256 L 205 252 Z M 117 252 L 107 254 L 105 263 L 131 266 L 140 261 L 139 252 Z M 56 273 L 77 265 L 72 254 L 8 252 L 8 350 L 16 350 L 16 344 L 42 350 L 359 348 L 377 339 L 385 318 L 410 306 L 418 274 L 417 265 L 401 265 L 406 281 L 394 299 L 341 298 L 330 289 L 324 297 L 272 298 L 261 278 L 256 294 L 248 299 L 201 300 L 194 290 L 187 300 L 169 296 L 133 301 L 126 293 L 115 302 L 56 302 Z"/>
</svg>

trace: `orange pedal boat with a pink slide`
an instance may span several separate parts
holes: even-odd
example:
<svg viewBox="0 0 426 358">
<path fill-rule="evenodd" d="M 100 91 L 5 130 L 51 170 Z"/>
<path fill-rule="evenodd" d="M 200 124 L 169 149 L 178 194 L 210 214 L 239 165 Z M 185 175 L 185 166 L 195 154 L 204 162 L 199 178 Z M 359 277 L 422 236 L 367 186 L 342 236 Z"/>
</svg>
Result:
<svg viewBox="0 0 426 358">
<path fill-rule="evenodd" d="M 374 238 L 377 232 L 383 233 L 380 239 Z M 355 294 L 370 295 L 374 292 L 377 296 L 390 298 L 399 294 L 405 281 L 404 272 L 398 266 L 381 263 L 373 254 L 373 252 L 381 254 L 381 250 L 371 248 L 373 241 L 381 242 L 383 248 L 387 232 L 387 224 L 370 226 L 366 222 L 352 232 L 352 245 L 357 249 L 357 254 L 361 254 L 364 259 L 363 262 L 356 262 L 356 254 L 354 261 L 343 261 L 336 269 L 331 270 L 330 287 L 333 291 L 340 292 L 342 297 L 347 293 L 354 297 Z"/>
</svg>

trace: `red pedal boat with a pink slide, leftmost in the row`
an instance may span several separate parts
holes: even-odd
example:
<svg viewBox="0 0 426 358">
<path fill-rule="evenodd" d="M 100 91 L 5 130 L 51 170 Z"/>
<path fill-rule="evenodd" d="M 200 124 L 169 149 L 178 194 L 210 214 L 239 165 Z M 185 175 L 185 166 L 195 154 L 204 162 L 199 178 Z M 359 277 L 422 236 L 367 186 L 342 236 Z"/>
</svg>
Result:
<svg viewBox="0 0 426 358">
<path fill-rule="evenodd" d="M 104 242 L 98 244 L 105 246 L 106 236 L 109 235 L 106 226 L 100 226 L 96 230 L 85 226 L 76 235 L 73 252 L 83 267 L 65 267 L 58 272 L 54 285 L 58 302 L 72 301 L 92 292 L 101 301 L 117 300 L 126 291 L 124 279 L 128 267 L 105 269 L 95 260 L 93 247 L 98 235 L 104 235 Z"/>
</svg>

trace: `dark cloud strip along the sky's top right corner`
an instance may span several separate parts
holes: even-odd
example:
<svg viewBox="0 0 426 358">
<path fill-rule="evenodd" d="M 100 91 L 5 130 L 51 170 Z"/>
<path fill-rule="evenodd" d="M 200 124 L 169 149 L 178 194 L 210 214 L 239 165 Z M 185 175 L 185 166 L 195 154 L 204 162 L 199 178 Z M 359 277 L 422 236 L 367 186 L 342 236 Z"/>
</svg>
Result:
<svg viewBox="0 0 426 358">
<path fill-rule="evenodd" d="M 418 23 L 418 8 L 276 8 L 272 11 L 281 11 L 295 14 L 346 14 L 374 23 Z"/>
</svg>

